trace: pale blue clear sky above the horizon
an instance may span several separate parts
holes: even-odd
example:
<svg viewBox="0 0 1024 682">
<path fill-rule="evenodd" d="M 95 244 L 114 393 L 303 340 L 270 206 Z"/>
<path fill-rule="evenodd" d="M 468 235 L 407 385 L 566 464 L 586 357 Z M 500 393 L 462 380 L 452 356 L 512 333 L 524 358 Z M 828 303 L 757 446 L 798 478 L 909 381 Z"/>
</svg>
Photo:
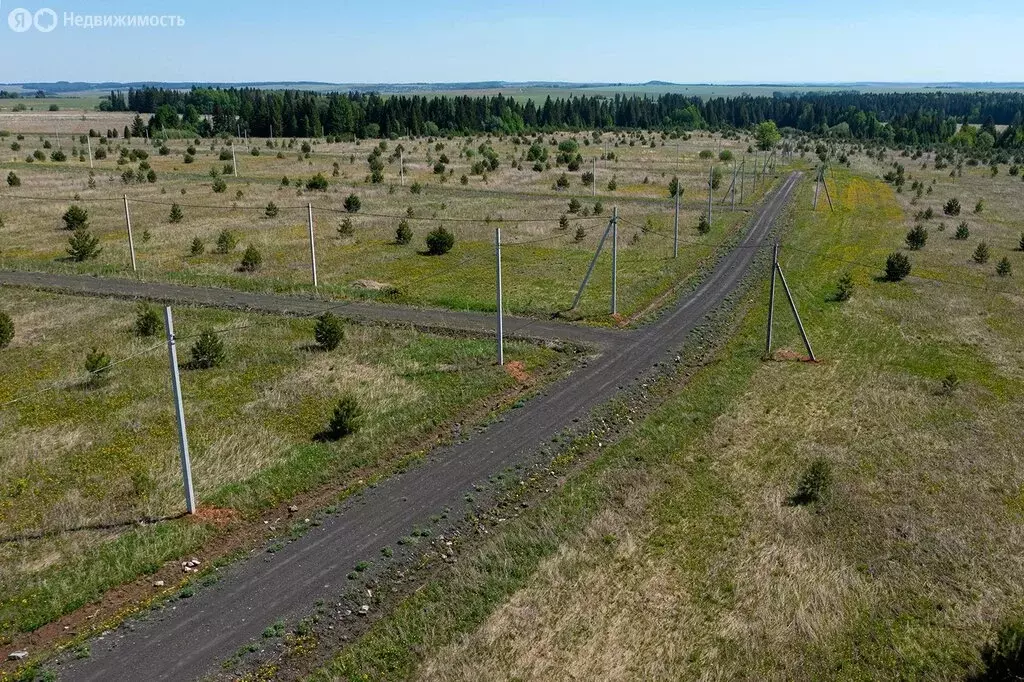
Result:
<svg viewBox="0 0 1024 682">
<path fill-rule="evenodd" d="M 1020 82 L 1022 36 L 1022 2 L 0 0 L 0 82 Z"/>
</svg>

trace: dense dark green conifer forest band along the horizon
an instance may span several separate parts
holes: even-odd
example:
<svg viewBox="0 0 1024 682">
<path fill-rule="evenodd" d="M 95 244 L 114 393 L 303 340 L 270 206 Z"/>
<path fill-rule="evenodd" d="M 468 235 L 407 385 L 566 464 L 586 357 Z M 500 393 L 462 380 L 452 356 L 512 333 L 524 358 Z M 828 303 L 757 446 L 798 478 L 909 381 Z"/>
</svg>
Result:
<svg viewBox="0 0 1024 682">
<path fill-rule="evenodd" d="M 392 137 L 442 133 L 561 129 L 780 128 L 892 144 L 959 142 L 1024 147 L 1024 93 L 912 92 L 775 93 L 716 97 L 568 96 L 543 104 L 495 96 L 383 97 L 257 88 L 173 90 L 145 87 L 112 92 L 103 109 L 153 114 L 151 133 L 187 129 L 210 136 L 239 130 L 254 136 Z M 957 133 L 962 123 L 983 126 Z M 996 126 L 1008 126 L 1001 131 Z"/>
</svg>

